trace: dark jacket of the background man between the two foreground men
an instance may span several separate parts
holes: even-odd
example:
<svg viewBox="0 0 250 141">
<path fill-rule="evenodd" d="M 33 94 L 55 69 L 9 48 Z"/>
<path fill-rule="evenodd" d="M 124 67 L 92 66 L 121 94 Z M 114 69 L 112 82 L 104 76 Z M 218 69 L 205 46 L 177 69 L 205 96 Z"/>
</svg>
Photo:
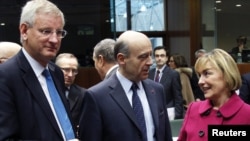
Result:
<svg viewBox="0 0 250 141">
<path fill-rule="evenodd" d="M 83 97 L 85 95 L 85 92 L 85 88 L 82 88 L 76 84 L 72 84 L 69 89 L 68 100 L 70 105 L 70 112 L 76 129 L 79 125 L 79 119 L 82 112 Z"/>
</svg>

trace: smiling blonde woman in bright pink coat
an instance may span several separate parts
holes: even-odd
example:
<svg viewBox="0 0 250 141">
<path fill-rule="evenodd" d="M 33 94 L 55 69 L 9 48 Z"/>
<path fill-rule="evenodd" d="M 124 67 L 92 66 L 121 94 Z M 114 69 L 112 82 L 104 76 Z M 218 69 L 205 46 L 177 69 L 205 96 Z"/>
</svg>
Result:
<svg viewBox="0 0 250 141">
<path fill-rule="evenodd" d="M 206 100 L 189 105 L 178 141 L 207 141 L 208 125 L 249 125 L 250 105 L 235 92 L 241 77 L 233 58 L 214 49 L 196 61 L 195 70 Z"/>
</svg>

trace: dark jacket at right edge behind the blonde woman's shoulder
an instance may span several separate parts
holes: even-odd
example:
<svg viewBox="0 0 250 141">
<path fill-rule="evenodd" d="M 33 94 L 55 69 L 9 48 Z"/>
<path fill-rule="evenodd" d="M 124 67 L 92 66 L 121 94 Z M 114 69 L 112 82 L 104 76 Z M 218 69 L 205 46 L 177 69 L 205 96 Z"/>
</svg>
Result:
<svg viewBox="0 0 250 141">
<path fill-rule="evenodd" d="M 240 98 L 250 104 L 250 73 L 242 75 L 242 86 L 240 87 Z"/>
</svg>

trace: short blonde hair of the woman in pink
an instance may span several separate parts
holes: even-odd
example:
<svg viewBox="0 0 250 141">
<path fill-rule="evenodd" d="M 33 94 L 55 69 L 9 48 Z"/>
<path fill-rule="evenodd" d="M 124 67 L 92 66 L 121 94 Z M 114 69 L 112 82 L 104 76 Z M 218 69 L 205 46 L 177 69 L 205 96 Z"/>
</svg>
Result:
<svg viewBox="0 0 250 141">
<path fill-rule="evenodd" d="M 202 70 L 207 63 L 211 63 L 213 67 L 220 70 L 231 91 L 235 91 L 241 86 L 241 75 L 234 59 L 226 51 L 222 49 L 213 49 L 204 56 L 198 58 L 195 63 L 195 70 Z"/>
</svg>

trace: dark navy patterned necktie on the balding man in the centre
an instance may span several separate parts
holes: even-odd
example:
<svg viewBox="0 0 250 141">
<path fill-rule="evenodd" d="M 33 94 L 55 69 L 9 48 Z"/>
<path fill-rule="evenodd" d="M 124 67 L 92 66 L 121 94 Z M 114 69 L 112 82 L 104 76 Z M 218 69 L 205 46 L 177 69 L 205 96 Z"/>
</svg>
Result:
<svg viewBox="0 0 250 141">
<path fill-rule="evenodd" d="M 135 116 L 136 116 L 136 119 L 137 119 L 139 126 L 141 128 L 141 131 L 143 133 L 143 141 L 147 141 L 147 128 L 146 128 L 146 123 L 145 123 L 144 112 L 143 112 L 141 100 L 137 94 L 137 89 L 138 89 L 137 84 L 133 83 L 131 89 L 133 91 L 132 104 L 133 104 Z"/>
</svg>

